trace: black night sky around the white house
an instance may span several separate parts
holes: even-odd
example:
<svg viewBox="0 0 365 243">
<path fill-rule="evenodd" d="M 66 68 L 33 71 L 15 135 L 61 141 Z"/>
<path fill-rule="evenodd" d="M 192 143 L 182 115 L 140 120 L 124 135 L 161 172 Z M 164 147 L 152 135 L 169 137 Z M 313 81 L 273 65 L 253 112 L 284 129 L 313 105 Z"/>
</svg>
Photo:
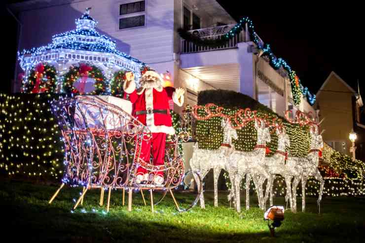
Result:
<svg viewBox="0 0 365 243">
<path fill-rule="evenodd" d="M 279 2 L 272 6 L 238 6 L 238 0 L 218 2 L 237 21 L 249 16 L 254 22 L 256 33 L 271 45 L 277 57 L 289 63 L 302 84 L 311 92 L 316 93 L 333 70 L 354 89 L 357 89 L 359 79 L 361 93 L 364 94 L 364 78 L 360 75 L 363 68 L 361 64 L 364 64 L 361 60 L 364 20 L 362 7 L 358 3 L 346 5 L 342 2 L 340 6 L 332 1 L 330 6 L 319 6 L 306 2 L 306 5 L 289 8 Z M 1 37 L 4 40 L 1 56 L 5 57 L 5 62 L 0 90 L 9 92 L 17 50 L 17 24 L 6 6 L 1 7 L 1 23 Z M 38 26 L 35 26 L 34 31 L 35 35 L 41 35 Z"/>
</svg>

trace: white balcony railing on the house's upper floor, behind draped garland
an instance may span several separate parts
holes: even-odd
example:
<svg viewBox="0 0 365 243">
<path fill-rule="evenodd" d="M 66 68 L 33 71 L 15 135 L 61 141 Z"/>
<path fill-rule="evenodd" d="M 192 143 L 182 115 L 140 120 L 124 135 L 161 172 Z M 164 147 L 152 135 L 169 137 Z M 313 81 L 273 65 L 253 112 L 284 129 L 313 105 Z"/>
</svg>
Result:
<svg viewBox="0 0 365 243">
<path fill-rule="evenodd" d="M 210 27 L 199 30 L 191 30 L 189 33 L 198 36 L 201 39 L 220 39 L 223 35 L 229 32 L 234 25 L 223 25 L 217 27 Z M 198 46 L 191 41 L 185 39 L 181 40 L 181 53 L 192 53 L 192 52 L 202 52 L 202 51 L 213 51 L 221 49 L 229 49 L 237 47 L 237 43 L 248 41 L 248 36 L 243 30 L 238 35 L 228 40 L 227 43 L 218 47 L 208 47 L 208 46 Z"/>
</svg>

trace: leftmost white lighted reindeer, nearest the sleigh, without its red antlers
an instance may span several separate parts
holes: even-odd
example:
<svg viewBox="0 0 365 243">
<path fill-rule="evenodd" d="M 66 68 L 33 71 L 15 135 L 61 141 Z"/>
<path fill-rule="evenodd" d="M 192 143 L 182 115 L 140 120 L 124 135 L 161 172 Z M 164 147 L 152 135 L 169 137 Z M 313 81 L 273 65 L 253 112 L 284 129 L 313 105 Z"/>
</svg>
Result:
<svg viewBox="0 0 365 243">
<path fill-rule="evenodd" d="M 232 143 L 232 138 L 237 139 L 237 132 L 231 126 L 228 119 L 222 119 L 221 127 L 223 129 L 223 142 L 221 146 L 216 150 L 200 149 L 198 144 L 195 143 L 192 158 L 190 159 L 190 167 L 192 171 L 200 173 L 201 179 L 208 174 L 208 172 L 213 169 L 214 174 L 214 206 L 218 207 L 218 177 L 220 171 L 223 169 L 228 172 L 232 180 L 234 176 L 227 163 L 227 155 L 229 155 L 234 150 L 234 145 Z M 194 178 L 195 178 L 194 174 Z M 200 188 L 200 182 L 195 178 L 198 188 Z M 203 191 L 200 193 L 200 206 L 205 208 Z"/>
</svg>

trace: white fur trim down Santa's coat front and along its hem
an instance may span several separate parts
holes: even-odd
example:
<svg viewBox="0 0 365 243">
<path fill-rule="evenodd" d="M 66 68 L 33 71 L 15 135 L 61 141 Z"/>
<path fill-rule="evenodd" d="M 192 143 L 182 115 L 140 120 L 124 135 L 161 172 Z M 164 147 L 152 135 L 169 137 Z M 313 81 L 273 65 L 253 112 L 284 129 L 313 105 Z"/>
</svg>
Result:
<svg viewBox="0 0 365 243">
<path fill-rule="evenodd" d="M 153 109 L 153 88 L 146 89 L 145 92 L 145 99 L 146 99 L 146 110 Z M 169 135 L 174 135 L 175 130 L 173 127 L 168 126 L 156 126 L 154 125 L 154 114 L 146 114 L 146 125 L 151 131 L 151 133 L 165 133 Z"/>
</svg>

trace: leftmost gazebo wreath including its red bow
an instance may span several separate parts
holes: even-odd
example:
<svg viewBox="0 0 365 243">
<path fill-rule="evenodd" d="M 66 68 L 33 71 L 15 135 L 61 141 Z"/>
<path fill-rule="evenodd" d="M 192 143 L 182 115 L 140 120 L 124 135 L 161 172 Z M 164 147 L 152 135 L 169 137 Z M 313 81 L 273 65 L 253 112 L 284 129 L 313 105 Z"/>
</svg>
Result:
<svg viewBox="0 0 365 243">
<path fill-rule="evenodd" d="M 53 93 L 56 89 L 56 68 L 39 63 L 32 69 L 27 80 L 23 80 L 24 93 Z"/>
</svg>

